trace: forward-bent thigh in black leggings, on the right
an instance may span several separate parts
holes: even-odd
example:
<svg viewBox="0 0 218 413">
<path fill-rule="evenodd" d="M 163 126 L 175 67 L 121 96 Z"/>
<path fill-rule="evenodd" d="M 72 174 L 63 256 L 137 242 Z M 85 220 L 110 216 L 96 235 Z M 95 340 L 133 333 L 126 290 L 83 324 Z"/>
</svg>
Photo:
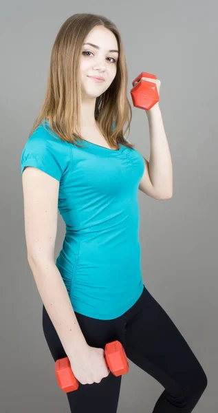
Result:
<svg viewBox="0 0 218 413">
<path fill-rule="evenodd" d="M 127 322 L 124 348 L 127 357 L 170 394 L 192 394 L 206 387 L 206 374 L 195 354 L 146 288 L 138 313 Z"/>
</svg>

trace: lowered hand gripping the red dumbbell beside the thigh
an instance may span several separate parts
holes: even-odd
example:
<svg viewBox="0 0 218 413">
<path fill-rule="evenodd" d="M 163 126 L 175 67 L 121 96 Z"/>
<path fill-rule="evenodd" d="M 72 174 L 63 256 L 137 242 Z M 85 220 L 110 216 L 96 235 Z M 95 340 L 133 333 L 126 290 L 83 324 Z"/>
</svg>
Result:
<svg viewBox="0 0 218 413">
<path fill-rule="evenodd" d="M 68 358 L 72 372 L 81 384 L 100 383 L 110 373 L 103 348 L 87 345 L 78 355 Z"/>
</svg>

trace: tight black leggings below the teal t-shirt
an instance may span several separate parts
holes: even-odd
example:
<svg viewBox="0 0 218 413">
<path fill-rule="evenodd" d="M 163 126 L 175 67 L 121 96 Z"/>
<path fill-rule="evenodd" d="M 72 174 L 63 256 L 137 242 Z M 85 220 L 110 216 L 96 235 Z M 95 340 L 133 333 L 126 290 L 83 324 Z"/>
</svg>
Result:
<svg viewBox="0 0 218 413">
<path fill-rule="evenodd" d="M 162 384 L 164 391 L 153 413 L 192 412 L 207 386 L 206 374 L 171 318 L 145 286 L 138 301 L 116 319 L 75 314 L 89 346 L 105 348 L 111 341 L 120 341 L 128 359 Z M 54 361 L 66 357 L 45 306 L 43 332 Z M 131 374 L 130 368 L 127 374 Z M 110 372 L 100 383 L 79 383 L 78 390 L 66 393 L 70 411 L 116 413 L 121 380 L 122 376 Z"/>
</svg>

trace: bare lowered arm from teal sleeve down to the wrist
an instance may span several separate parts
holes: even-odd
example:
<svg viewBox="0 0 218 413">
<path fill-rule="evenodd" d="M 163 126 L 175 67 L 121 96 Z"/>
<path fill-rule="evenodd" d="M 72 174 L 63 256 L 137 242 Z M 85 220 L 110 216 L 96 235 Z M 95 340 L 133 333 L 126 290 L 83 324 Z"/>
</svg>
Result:
<svg viewBox="0 0 218 413">
<path fill-rule="evenodd" d="M 34 167 L 22 174 L 28 263 L 67 357 L 87 350 L 67 288 L 54 262 L 59 182 Z"/>
</svg>

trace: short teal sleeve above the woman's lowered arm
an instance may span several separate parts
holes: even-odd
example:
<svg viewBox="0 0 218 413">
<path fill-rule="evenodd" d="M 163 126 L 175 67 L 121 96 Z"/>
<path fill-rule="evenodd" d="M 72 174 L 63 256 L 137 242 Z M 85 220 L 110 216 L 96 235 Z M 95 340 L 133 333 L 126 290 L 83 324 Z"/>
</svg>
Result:
<svg viewBox="0 0 218 413">
<path fill-rule="evenodd" d="M 21 153 L 21 176 L 25 167 L 35 167 L 60 181 L 69 162 L 67 142 L 38 127 L 28 138 Z"/>
</svg>

